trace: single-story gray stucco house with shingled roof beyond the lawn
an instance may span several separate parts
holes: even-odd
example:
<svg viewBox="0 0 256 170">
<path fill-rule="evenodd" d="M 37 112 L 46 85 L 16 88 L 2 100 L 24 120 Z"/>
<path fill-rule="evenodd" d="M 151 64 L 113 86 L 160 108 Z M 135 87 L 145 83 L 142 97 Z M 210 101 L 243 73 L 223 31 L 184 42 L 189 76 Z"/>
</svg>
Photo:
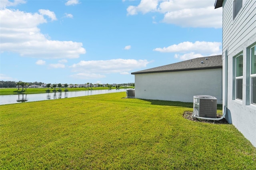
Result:
<svg viewBox="0 0 256 170">
<path fill-rule="evenodd" d="M 136 71 L 135 97 L 193 102 L 194 95 L 211 95 L 222 103 L 222 55 L 200 57 Z"/>
</svg>

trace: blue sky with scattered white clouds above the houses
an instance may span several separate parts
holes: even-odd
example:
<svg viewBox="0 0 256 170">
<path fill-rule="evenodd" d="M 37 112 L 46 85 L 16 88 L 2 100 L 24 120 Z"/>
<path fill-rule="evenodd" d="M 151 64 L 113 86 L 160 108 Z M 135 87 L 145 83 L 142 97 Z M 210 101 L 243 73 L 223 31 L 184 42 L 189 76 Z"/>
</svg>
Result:
<svg viewBox="0 0 256 170">
<path fill-rule="evenodd" d="M 134 83 L 132 72 L 222 54 L 215 0 L 0 0 L 0 80 Z"/>
</svg>

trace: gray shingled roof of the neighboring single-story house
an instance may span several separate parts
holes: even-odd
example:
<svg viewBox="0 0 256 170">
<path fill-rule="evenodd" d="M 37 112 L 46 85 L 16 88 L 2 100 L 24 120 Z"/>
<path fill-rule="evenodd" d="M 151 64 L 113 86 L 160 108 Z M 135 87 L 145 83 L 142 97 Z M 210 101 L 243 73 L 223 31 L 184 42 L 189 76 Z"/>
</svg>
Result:
<svg viewBox="0 0 256 170">
<path fill-rule="evenodd" d="M 207 59 L 206 59 L 207 58 Z M 201 63 L 203 61 L 203 63 Z M 218 69 L 222 68 L 222 55 L 214 55 L 209 57 L 199 57 L 189 59 L 178 63 L 168 64 L 160 67 L 154 67 L 142 71 L 136 71 L 131 74 L 145 74 L 145 73 L 162 73 L 172 71 L 188 71 L 188 70 L 202 70 L 202 69 Z"/>
</svg>

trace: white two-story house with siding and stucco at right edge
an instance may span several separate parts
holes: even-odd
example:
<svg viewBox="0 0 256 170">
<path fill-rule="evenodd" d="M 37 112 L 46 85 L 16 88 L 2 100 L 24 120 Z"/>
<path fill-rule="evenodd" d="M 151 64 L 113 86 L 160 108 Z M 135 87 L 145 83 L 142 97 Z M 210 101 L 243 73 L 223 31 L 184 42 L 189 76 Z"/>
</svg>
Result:
<svg viewBox="0 0 256 170">
<path fill-rule="evenodd" d="M 256 147 L 256 0 L 216 0 L 223 7 L 223 105 L 226 120 Z"/>
</svg>

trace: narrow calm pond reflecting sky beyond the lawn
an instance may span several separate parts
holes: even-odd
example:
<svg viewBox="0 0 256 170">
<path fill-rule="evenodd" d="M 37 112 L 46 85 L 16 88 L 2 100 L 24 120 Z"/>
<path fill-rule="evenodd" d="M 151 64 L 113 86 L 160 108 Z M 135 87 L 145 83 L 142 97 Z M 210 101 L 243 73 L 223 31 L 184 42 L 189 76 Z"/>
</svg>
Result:
<svg viewBox="0 0 256 170">
<path fill-rule="evenodd" d="M 52 92 L 52 93 L 39 93 L 39 94 L 0 95 L 0 105 L 30 102 L 30 101 L 62 99 L 62 98 L 88 96 L 88 95 L 99 95 L 99 94 L 106 94 L 106 93 L 116 93 L 116 92 L 124 92 L 126 90 L 127 89 L 86 90 L 86 91 Z"/>
</svg>

